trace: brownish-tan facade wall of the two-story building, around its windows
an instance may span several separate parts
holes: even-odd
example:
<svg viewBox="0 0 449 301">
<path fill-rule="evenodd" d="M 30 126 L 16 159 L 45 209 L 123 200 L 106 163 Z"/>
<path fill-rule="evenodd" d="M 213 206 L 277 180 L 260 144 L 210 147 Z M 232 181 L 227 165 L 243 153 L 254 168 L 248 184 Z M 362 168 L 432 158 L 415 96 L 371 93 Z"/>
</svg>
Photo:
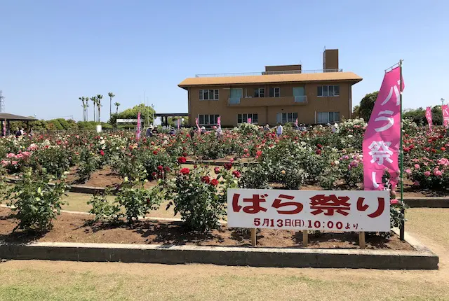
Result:
<svg viewBox="0 0 449 301">
<path fill-rule="evenodd" d="M 320 85 L 339 85 L 340 96 L 318 97 L 318 87 Z M 316 123 L 319 112 L 339 112 L 340 120 L 342 118 L 348 119 L 351 118 L 351 85 L 348 82 L 322 82 L 189 87 L 189 123 L 194 126 L 195 118 L 199 114 L 220 115 L 222 126 L 237 125 L 237 114 L 239 113 L 257 113 L 259 125 L 267 123 L 276 125 L 277 113 L 297 113 L 298 122 L 306 124 Z M 259 87 L 264 87 L 265 89 L 265 97 L 263 99 L 254 97 L 254 90 Z M 279 87 L 281 97 L 269 97 L 270 87 Z M 294 102 L 293 87 L 305 88 L 306 104 Z M 242 89 L 243 98 L 241 99 L 241 104 L 228 105 L 230 88 Z M 218 89 L 219 100 L 199 100 L 199 90 L 205 89 Z M 258 104 L 263 105 L 259 106 Z"/>
</svg>

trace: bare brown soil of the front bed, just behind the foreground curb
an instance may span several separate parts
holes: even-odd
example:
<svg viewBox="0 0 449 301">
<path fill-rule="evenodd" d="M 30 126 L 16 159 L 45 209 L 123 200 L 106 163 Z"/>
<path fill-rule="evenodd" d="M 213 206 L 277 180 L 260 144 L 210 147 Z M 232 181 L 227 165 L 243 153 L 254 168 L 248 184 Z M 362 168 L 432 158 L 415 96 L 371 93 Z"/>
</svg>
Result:
<svg viewBox="0 0 449 301">
<path fill-rule="evenodd" d="M 222 226 L 210 233 L 189 231 L 181 222 L 139 221 L 128 225 L 104 225 L 93 222 L 88 216 L 62 214 L 53 221 L 53 229 L 45 235 L 13 232 L 17 223 L 11 210 L 0 208 L 0 241 L 58 241 L 116 244 L 165 244 L 197 246 L 250 246 L 250 231 Z M 413 250 L 397 236 L 391 239 L 367 237 L 367 248 Z M 302 232 L 293 230 L 257 230 L 257 246 L 302 247 Z M 358 248 L 358 234 L 351 232 L 326 232 L 309 235 L 309 248 Z"/>
</svg>

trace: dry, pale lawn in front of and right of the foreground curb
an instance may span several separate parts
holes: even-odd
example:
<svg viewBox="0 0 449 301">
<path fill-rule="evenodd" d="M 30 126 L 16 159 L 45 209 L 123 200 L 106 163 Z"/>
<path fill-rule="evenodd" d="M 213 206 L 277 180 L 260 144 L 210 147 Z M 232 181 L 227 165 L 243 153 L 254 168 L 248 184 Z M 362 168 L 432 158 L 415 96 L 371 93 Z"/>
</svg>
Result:
<svg viewBox="0 0 449 301">
<path fill-rule="evenodd" d="M 437 271 L 292 269 L 121 262 L 0 263 L 0 300 L 449 300 L 449 209 L 408 210 Z"/>
</svg>

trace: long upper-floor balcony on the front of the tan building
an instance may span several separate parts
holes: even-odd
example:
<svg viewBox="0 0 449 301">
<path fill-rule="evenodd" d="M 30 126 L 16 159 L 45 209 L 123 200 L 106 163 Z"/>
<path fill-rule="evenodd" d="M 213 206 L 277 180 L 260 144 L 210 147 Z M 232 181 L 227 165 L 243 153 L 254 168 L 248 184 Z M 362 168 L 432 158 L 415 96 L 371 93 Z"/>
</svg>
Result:
<svg viewBox="0 0 449 301">
<path fill-rule="evenodd" d="M 228 99 L 228 106 L 295 106 L 307 104 L 307 96 L 244 97 Z"/>
</svg>

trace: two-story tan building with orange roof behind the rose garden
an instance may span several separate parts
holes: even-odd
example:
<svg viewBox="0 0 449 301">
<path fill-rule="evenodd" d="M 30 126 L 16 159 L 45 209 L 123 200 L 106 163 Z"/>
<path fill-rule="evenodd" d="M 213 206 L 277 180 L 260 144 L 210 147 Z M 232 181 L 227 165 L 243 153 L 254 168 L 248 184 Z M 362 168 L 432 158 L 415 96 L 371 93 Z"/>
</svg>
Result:
<svg viewBox="0 0 449 301">
<path fill-rule="evenodd" d="M 223 126 L 246 123 L 335 123 L 351 118 L 352 85 L 362 78 L 343 72 L 338 50 L 324 50 L 323 69 L 304 71 L 301 65 L 265 66 L 261 73 L 210 74 L 186 78 L 189 123 Z"/>
</svg>

